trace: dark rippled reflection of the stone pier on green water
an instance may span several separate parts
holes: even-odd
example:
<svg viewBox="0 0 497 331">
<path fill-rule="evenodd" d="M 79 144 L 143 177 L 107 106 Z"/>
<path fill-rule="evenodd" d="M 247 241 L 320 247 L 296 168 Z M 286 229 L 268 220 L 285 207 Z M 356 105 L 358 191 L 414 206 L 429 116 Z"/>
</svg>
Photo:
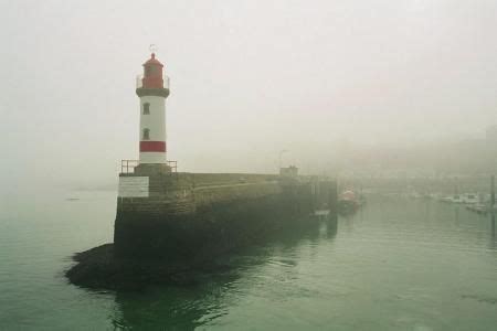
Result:
<svg viewBox="0 0 497 331">
<path fill-rule="evenodd" d="M 271 242 L 244 249 L 215 261 L 215 271 L 194 276 L 191 286 L 157 286 L 142 292 L 116 293 L 118 311 L 112 316 L 115 329 L 193 330 L 228 313 L 229 308 L 243 298 L 240 284 L 257 286 L 251 278 L 295 277 L 296 268 L 306 250 L 306 258 L 317 253 L 319 241 L 334 239 L 338 220 L 327 218 L 311 226 L 287 229 Z M 309 256 L 310 255 L 310 256 Z M 274 275 L 267 267 L 276 270 Z M 261 281 L 261 280 L 257 280 Z"/>
</svg>

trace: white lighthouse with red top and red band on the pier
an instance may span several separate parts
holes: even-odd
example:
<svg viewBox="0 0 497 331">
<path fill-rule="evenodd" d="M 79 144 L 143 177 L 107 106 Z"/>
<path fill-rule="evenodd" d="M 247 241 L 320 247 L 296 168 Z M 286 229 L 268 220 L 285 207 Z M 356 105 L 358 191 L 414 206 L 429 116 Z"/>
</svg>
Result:
<svg viewBox="0 0 497 331">
<path fill-rule="evenodd" d="M 136 94 L 140 99 L 138 167 L 141 169 L 170 170 L 166 158 L 166 98 L 169 96 L 169 78 L 163 76 L 162 70 L 162 63 L 151 53 L 150 58 L 144 63 L 142 77 L 137 79 Z"/>
</svg>

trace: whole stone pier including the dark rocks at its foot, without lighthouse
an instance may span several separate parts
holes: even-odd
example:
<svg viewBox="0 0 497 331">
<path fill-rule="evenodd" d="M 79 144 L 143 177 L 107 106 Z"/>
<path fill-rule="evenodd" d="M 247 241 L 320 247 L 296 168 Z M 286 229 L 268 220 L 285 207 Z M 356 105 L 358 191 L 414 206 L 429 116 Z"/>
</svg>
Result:
<svg viewBox="0 0 497 331">
<path fill-rule="evenodd" d="M 75 255 L 77 285 L 123 288 L 183 281 L 215 257 L 336 207 L 336 183 L 310 177 L 157 172 L 120 174 L 114 245 Z"/>
</svg>

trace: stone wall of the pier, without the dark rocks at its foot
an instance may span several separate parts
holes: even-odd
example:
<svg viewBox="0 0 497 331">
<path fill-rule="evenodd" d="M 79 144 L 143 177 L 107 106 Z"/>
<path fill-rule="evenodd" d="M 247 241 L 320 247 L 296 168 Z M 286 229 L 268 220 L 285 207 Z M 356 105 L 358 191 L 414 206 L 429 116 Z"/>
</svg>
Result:
<svg viewBox="0 0 497 331">
<path fill-rule="evenodd" d="M 133 182 L 138 175 L 121 174 Z M 309 178 L 240 173 L 140 175 L 137 196 L 119 196 L 115 252 L 123 257 L 205 259 L 256 242 L 307 216 L 330 185 Z M 148 181 L 148 193 L 144 183 Z M 331 183 L 331 188 L 336 184 Z M 119 194 L 121 195 L 121 194 Z M 320 199 L 317 199 L 317 197 Z M 331 195 L 328 197 L 328 202 Z M 307 220 L 307 221 L 304 221 Z"/>
</svg>

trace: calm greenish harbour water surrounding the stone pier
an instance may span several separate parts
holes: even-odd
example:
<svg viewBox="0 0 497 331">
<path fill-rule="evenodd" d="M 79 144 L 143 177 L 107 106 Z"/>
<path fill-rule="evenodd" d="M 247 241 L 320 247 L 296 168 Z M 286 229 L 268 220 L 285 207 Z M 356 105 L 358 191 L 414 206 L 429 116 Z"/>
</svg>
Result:
<svg viewBox="0 0 497 331">
<path fill-rule="evenodd" d="M 195 286 L 68 285 L 70 255 L 112 241 L 114 209 L 114 192 L 3 202 L 0 330 L 497 330 L 495 225 L 462 206 L 371 196 L 355 216 L 246 249 Z"/>
</svg>

